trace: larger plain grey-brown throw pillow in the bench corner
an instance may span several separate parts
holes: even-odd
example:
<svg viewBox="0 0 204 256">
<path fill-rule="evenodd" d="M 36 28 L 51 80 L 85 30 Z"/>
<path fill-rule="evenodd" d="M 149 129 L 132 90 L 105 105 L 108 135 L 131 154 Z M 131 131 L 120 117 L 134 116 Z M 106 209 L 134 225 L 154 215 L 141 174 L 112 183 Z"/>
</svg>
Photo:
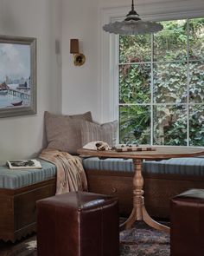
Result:
<svg viewBox="0 0 204 256">
<path fill-rule="evenodd" d="M 81 124 L 92 121 L 92 113 L 81 115 L 54 115 L 48 111 L 44 115 L 48 148 L 77 154 L 77 149 L 82 148 Z"/>
</svg>

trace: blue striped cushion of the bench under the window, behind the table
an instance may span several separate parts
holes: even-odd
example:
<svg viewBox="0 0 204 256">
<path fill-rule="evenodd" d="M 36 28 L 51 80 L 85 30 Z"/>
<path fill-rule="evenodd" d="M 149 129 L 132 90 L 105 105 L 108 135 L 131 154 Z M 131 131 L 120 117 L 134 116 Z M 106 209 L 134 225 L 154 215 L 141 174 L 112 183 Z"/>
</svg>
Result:
<svg viewBox="0 0 204 256">
<path fill-rule="evenodd" d="M 83 165 L 85 169 L 89 170 L 133 172 L 131 159 L 107 158 L 105 160 L 99 160 L 97 157 L 91 157 L 85 158 Z M 203 176 L 204 158 L 188 157 L 173 158 L 163 161 L 145 161 L 143 162 L 143 173 Z"/>
</svg>

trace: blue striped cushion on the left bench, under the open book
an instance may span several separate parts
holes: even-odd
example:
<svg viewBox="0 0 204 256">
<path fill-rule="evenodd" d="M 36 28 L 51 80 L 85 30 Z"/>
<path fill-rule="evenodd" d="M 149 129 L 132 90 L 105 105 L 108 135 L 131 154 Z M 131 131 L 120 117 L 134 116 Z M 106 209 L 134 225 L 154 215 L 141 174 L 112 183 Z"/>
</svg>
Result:
<svg viewBox="0 0 204 256">
<path fill-rule="evenodd" d="M 41 181 L 47 181 L 56 174 L 56 167 L 48 161 L 41 161 L 41 169 L 10 169 L 0 166 L 0 187 L 19 188 L 26 187 Z"/>
</svg>

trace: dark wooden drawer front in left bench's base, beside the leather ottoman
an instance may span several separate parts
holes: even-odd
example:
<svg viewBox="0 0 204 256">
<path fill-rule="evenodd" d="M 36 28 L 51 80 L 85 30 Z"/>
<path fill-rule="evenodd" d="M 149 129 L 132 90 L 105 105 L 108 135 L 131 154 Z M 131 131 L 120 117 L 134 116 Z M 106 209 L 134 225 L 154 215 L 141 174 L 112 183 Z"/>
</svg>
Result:
<svg viewBox="0 0 204 256">
<path fill-rule="evenodd" d="M 15 229 L 21 229 L 36 222 L 36 200 L 55 194 L 52 184 L 35 188 L 27 193 L 15 196 Z"/>
</svg>

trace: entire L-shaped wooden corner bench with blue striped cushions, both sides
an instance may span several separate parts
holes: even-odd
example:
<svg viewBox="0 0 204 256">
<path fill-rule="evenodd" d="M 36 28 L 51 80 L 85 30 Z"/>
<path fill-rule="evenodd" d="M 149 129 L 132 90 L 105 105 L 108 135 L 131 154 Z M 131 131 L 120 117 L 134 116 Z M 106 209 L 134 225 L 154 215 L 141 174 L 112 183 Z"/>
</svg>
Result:
<svg viewBox="0 0 204 256">
<path fill-rule="evenodd" d="M 56 167 L 41 161 L 42 169 L 0 167 L 0 239 L 15 241 L 36 231 L 35 201 L 55 194 Z M 89 191 L 115 195 L 120 213 L 132 208 L 131 160 L 85 158 Z M 169 198 L 188 188 L 204 188 L 204 158 L 143 162 L 145 206 L 152 217 L 169 218 Z"/>
</svg>

